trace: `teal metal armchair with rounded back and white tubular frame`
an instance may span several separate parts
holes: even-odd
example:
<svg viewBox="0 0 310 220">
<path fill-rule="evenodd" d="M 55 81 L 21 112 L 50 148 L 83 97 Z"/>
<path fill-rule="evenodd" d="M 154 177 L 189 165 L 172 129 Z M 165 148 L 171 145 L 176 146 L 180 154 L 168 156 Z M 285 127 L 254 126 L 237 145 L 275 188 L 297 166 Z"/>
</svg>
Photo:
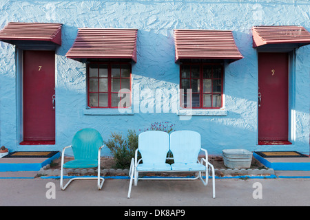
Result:
<svg viewBox="0 0 310 220">
<path fill-rule="evenodd" d="M 72 147 L 74 160 L 63 164 L 65 149 Z M 74 135 L 72 145 L 65 146 L 61 155 L 61 181 L 60 187 L 65 190 L 74 179 L 97 179 L 98 190 L 101 190 L 105 179 L 100 177 L 100 158 L 103 139 L 101 134 L 95 129 L 82 129 Z M 98 167 L 97 177 L 75 177 L 63 186 L 63 168 L 92 168 Z M 102 180 L 100 182 L 100 180 Z"/>
</svg>

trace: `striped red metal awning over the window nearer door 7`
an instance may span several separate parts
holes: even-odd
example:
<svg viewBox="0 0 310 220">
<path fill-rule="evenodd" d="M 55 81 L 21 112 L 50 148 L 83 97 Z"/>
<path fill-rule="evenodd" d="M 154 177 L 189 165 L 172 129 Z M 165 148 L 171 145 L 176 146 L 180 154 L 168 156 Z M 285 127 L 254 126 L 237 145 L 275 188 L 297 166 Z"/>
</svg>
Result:
<svg viewBox="0 0 310 220">
<path fill-rule="evenodd" d="M 137 29 L 79 28 L 68 58 L 130 58 L 136 62 Z"/>
</svg>

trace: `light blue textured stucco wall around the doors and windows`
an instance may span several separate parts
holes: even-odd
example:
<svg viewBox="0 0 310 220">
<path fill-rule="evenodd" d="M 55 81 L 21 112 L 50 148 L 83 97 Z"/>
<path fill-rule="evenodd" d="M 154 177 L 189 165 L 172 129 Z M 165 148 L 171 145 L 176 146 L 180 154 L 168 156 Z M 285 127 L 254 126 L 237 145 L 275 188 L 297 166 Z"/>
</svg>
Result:
<svg viewBox="0 0 310 220">
<path fill-rule="evenodd" d="M 107 140 L 111 132 L 149 128 L 168 121 L 176 130 L 198 131 L 203 148 L 220 154 L 224 148 L 249 151 L 300 151 L 309 154 L 310 46 L 296 50 L 291 88 L 292 145 L 258 146 L 258 56 L 252 47 L 254 25 L 302 25 L 310 30 L 309 1 L 0 1 L 0 28 L 10 21 L 63 23 L 62 45 L 56 50 L 56 144 L 19 145 L 19 78 L 14 45 L 0 43 L 0 145 L 10 151 L 61 151 L 76 131 L 92 127 Z M 174 29 L 232 30 L 242 60 L 225 65 L 225 107 L 184 120 L 176 112 L 143 113 L 133 104 L 128 115 L 105 115 L 105 109 L 85 109 L 85 64 L 66 58 L 78 28 L 136 28 L 137 63 L 133 86 L 178 89 L 179 66 L 174 63 Z M 134 88 L 133 93 L 138 89 Z M 154 90 L 153 90 L 154 91 Z M 155 107 L 154 107 L 155 111 Z M 182 120 L 183 119 L 183 120 Z M 108 149 L 104 155 L 110 155 Z"/>
</svg>

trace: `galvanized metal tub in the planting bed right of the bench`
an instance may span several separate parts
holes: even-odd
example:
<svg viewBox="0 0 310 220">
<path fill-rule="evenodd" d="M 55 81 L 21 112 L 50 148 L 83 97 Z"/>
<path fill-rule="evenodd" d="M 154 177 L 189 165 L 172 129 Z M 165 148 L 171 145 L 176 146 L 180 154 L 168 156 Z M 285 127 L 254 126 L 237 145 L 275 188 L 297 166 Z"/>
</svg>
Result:
<svg viewBox="0 0 310 220">
<path fill-rule="evenodd" d="M 250 168 L 253 155 L 251 151 L 245 149 L 225 149 L 222 152 L 224 165 L 228 168 Z"/>
</svg>

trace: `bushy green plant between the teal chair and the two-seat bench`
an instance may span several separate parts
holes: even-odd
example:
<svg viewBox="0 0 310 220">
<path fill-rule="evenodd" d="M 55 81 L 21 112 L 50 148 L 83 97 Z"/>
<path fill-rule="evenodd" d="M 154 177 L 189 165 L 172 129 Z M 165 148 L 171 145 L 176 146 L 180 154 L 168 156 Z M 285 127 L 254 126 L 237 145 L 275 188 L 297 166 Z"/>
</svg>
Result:
<svg viewBox="0 0 310 220">
<path fill-rule="evenodd" d="M 111 133 L 111 139 L 104 142 L 115 159 L 116 168 L 129 168 L 134 152 L 138 148 L 136 131 L 128 130 L 126 139 L 121 133 Z"/>
</svg>

